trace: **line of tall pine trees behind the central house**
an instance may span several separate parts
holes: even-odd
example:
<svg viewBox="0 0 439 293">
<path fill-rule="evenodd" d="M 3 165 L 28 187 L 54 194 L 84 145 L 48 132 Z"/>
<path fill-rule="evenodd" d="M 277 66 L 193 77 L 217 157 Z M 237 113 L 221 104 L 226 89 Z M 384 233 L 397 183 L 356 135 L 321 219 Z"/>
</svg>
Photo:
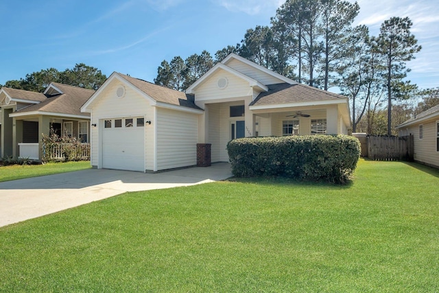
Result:
<svg viewBox="0 0 439 293">
<path fill-rule="evenodd" d="M 375 134 L 378 112 L 386 110 L 386 133 L 394 134 L 393 104 L 421 95 L 405 80 L 406 62 L 421 47 L 409 18 L 392 17 L 371 36 L 366 25 L 353 26 L 359 9 L 346 0 L 287 0 L 271 25 L 248 29 L 240 43 L 219 49 L 214 58 L 202 51 L 186 60 L 163 60 L 154 82 L 184 91 L 233 52 L 299 83 L 339 88 L 350 99 L 353 132 Z"/>
</svg>

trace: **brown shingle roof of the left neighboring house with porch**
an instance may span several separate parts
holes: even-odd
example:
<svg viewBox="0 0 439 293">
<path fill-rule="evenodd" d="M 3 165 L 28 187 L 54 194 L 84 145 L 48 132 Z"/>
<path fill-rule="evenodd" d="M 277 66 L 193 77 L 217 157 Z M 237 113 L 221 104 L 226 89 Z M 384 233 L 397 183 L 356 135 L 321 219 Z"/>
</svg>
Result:
<svg viewBox="0 0 439 293">
<path fill-rule="evenodd" d="M 54 96 L 45 96 L 45 100 L 40 104 L 28 106 L 17 113 L 26 113 L 33 111 L 42 111 L 50 113 L 61 113 L 68 115 L 82 115 L 89 116 L 89 113 L 81 113 L 81 106 L 84 104 L 95 91 L 90 89 L 82 89 L 76 86 L 68 86 L 66 84 L 59 84 L 58 82 L 52 82 L 62 94 Z"/>
</svg>

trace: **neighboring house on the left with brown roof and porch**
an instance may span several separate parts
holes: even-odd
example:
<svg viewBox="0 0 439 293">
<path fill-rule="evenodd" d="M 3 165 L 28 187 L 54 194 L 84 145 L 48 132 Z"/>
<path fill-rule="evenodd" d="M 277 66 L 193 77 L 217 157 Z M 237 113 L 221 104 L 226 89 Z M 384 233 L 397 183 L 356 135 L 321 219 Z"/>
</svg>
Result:
<svg viewBox="0 0 439 293">
<path fill-rule="evenodd" d="M 80 108 L 95 91 L 52 82 L 44 93 L 0 90 L 1 157 L 41 161 L 42 137 L 53 128 L 58 135 L 89 142 L 90 115 Z"/>
</svg>

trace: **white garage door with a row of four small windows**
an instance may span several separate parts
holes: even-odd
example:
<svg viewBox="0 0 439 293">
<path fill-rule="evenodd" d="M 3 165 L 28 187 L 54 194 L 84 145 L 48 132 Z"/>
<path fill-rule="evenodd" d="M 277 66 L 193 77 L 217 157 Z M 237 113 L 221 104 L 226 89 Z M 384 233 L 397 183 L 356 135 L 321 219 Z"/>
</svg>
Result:
<svg viewBox="0 0 439 293">
<path fill-rule="evenodd" d="M 143 118 L 106 119 L 102 132 L 102 167 L 145 171 Z"/>
</svg>

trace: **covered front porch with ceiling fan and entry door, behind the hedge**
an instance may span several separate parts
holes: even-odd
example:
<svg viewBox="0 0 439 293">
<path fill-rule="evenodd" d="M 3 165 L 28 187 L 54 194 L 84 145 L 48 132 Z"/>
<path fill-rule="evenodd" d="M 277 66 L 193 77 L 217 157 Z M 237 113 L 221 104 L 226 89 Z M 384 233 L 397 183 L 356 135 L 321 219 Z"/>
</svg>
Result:
<svg viewBox="0 0 439 293">
<path fill-rule="evenodd" d="M 256 108 L 248 100 L 204 104 L 200 141 L 211 143 L 211 161 L 228 161 L 228 141 L 241 137 L 347 134 L 346 104 Z M 203 141 L 204 139 L 204 141 Z"/>
</svg>

